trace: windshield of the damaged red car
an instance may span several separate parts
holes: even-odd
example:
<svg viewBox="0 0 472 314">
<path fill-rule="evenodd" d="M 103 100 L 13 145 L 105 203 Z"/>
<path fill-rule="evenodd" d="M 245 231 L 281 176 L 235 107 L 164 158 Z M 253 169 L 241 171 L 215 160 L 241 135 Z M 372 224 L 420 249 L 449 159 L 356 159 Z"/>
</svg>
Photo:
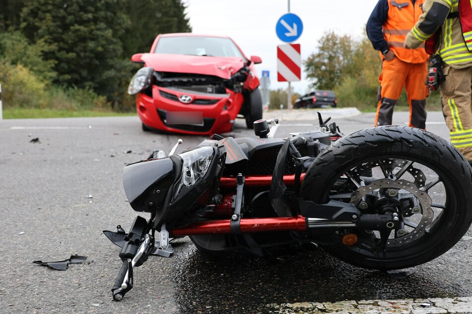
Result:
<svg viewBox="0 0 472 314">
<path fill-rule="evenodd" d="M 229 38 L 176 36 L 159 38 L 154 53 L 240 57 L 243 54 Z"/>
</svg>

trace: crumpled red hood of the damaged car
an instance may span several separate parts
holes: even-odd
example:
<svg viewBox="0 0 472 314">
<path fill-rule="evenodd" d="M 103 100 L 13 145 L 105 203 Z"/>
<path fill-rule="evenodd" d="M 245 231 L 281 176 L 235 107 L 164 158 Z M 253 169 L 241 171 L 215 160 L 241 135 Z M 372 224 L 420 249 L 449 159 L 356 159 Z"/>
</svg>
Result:
<svg viewBox="0 0 472 314">
<path fill-rule="evenodd" d="M 143 53 L 141 60 L 155 71 L 215 75 L 229 79 L 244 66 L 240 57 Z"/>
</svg>

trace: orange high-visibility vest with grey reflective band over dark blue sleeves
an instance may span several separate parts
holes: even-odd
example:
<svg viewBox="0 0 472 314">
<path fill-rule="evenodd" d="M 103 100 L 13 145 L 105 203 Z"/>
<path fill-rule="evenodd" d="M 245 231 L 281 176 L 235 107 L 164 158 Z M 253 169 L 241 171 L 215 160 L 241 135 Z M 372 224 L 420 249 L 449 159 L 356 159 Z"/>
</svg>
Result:
<svg viewBox="0 0 472 314">
<path fill-rule="evenodd" d="M 403 48 L 406 34 L 413 28 L 420 15 L 423 13 L 423 0 L 416 0 L 414 4 L 410 0 L 403 2 L 389 0 L 388 17 L 382 26 L 384 39 L 390 50 L 402 61 L 408 63 L 423 63 L 428 59 L 428 54 L 423 47 L 416 49 Z"/>
</svg>

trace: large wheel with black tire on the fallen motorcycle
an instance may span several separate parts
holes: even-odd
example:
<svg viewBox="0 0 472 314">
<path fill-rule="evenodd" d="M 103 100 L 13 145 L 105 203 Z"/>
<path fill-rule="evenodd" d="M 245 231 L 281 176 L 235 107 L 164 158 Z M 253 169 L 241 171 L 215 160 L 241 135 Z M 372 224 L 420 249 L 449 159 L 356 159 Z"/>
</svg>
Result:
<svg viewBox="0 0 472 314">
<path fill-rule="evenodd" d="M 392 230 L 388 239 L 384 235 L 382 240 L 378 231 L 358 228 L 326 236 L 319 244 L 352 265 L 401 269 L 437 258 L 468 231 L 471 171 L 469 162 L 451 143 L 430 132 L 373 127 L 326 148 L 307 170 L 300 196 L 317 204 L 329 200 L 351 203 L 361 214 L 397 210 L 402 228 Z M 401 196 L 404 199 L 399 201 Z M 342 243 L 341 237 L 347 233 L 357 235 L 355 244 Z"/>
</svg>

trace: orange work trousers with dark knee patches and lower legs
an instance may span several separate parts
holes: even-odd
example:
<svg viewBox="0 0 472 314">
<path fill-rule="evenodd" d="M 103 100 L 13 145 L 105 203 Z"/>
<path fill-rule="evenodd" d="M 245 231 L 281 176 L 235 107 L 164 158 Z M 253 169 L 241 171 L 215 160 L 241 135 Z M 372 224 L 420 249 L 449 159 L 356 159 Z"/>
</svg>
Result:
<svg viewBox="0 0 472 314">
<path fill-rule="evenodd" d="M 391 125 L 394 107 L 405 86 L 410 114 L 408 125 L 426 129 L 426 97 L 428 88 L 425 85 L 428 76 L 428 65 L 407 63 L 398 57 L 382 61 L 382 73 L 379 76 L 380 98 L 377 105 L 374 126 Z"/>
</svg>

